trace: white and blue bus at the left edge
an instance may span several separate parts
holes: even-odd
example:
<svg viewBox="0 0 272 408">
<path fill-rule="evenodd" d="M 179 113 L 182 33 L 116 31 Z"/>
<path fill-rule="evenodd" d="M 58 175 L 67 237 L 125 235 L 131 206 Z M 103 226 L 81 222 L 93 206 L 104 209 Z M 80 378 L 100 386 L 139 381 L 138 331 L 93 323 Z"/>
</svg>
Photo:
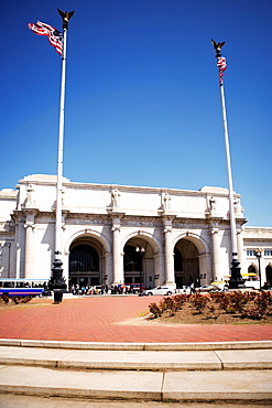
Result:
<svg viewBox="0 0 272 408">
<path fill-rule="evenodd" d="M 48 279 L 0 279 L 0 296 L 42 297 L 48 292 Z"/>
</svg>

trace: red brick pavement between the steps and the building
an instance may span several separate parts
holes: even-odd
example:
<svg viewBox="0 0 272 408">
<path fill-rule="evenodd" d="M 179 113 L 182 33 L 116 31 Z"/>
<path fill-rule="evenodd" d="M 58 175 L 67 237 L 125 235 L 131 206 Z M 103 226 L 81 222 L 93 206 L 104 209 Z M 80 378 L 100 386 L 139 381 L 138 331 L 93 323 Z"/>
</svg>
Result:
<svg viewBox="0 0 272 408">
<path fill-rule="evenodd" d="M 160 300 L 155 298 L 156 302 Z M 105 296 L 52 302 L 34 299 L 26 307 L 0 309 L 0 337 L 115 343 L 272 341 L 271 325 L 131 323 L 131 319 L 148 311 L 150 298 Z M 129 324 L 120 324 L 126 321 Z"/>
</svg>

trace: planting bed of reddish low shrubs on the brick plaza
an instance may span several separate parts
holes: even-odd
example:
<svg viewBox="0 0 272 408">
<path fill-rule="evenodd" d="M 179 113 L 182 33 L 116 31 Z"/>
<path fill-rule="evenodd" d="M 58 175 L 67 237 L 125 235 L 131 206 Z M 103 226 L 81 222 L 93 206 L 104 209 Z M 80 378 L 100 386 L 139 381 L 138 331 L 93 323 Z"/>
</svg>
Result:
<svg viewBox="0 0 272 408">
<path fill-rule="evenodd" d="M 272 323 L 272 296 L 263 292 L 175 294 L 149 305 L 149 319 L 165 323 Z"/>
</svg>

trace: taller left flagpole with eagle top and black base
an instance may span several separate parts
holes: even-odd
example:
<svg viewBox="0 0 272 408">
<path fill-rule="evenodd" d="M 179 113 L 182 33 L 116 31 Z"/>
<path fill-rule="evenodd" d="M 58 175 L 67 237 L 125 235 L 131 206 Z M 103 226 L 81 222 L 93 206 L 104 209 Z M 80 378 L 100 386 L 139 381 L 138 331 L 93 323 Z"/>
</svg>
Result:
<svg viewBox="0 0 272 408">
<path fill-rule="evenodd" d="M 63 54 L 62 54 L 62 82 L 61 82 L 61 103 L 59 103 L 59 126 L 58 126 L 58 149 L 57 149 L 57 183 L 56 183 L 56 224 L 55 224 L 55 260 L 53 262 L 53 276 L 51 288 L 54 291 L 54 303 L 62 302 L 63 292 L 66 283 L 63 279 L 62 268 L 62 181 L 63 181 L 63 144 L 64 144 L 64 105 L 65 105 L 65 79 L 66 79 L 66 43 L 68 22 L 74 11 L 67 12 L 57 9 L 63 19 Z"/>
</svg>

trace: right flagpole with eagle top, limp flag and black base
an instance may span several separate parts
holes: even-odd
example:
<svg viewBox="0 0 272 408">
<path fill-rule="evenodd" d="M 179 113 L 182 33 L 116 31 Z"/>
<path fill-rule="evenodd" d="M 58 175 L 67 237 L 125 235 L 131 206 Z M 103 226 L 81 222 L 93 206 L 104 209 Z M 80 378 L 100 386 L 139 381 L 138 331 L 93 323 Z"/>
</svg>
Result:
<svg viewBox="0 0 272 408">
<path fill-rule="evenodd" d="M 232 184 L 232 173 L 231 173 L 231 163 L 230 163 L 230 150 L 229 150 L 229 135 L 228 135 L 228 125 L 227 125 L 227 115 L 226 115 L 226 103 L 225 103 L 225 93 L 222 76 L 224 72 L 227 69 L 226 58 L 221 56 L 221 47 L 225 44 L 216 43 L 211 40 L 214 49 L 216 50 L 217 66 L 219 71 L 219 84 L 220 84 L 220 97 L 221 97 L 221 108 L 222 108 L 222 125 L 224 125 L 224 135 L 225 135 L 225 148 L 226 148 L 226 159 L 227 159 L 227 172 L 228 172 L 228 186 L 229 186 L 229 218 L 230 218 L 230 234 L 231 234 L 231 253 L 232 253 L 232 267 L 231 277 L 229 281 L 229 287 L 237 289 L 239 286 L 242 286 L 242 277 L 240 273 L 241 268 L 239 267 L 240 262 L 238 260 L 237 251 L 237 237 L 236 237 L 236 217 L 235 217 L 235 205 L 233 205 L 233 184 Z"/>
</svg>

